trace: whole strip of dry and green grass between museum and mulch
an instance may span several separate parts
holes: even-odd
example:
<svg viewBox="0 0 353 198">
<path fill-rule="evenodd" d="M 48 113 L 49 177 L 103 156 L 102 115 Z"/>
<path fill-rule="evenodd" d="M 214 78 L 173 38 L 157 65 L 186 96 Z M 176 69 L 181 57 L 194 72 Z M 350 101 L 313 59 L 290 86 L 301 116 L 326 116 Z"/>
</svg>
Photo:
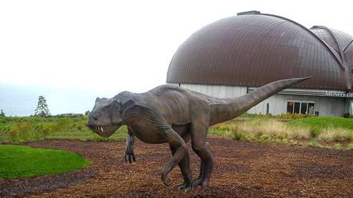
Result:
<svg viewBox="0 0 353 198">
<path fill-rule="evenodd" d="M 341 117 L 306 117 L 287 123 L 271 117 L 253 117 L 238 123 L 220 123 L 212 126 L 210 135 L 241 141 L 350 150 L 352 149 L 350 147 L 353 147 L 350 146 L 353 141 L 353 129 L 350 128 L 352 123 L 352 119 Z M 334 143 L 336 146 L 332 146 Z"/>
</svg>

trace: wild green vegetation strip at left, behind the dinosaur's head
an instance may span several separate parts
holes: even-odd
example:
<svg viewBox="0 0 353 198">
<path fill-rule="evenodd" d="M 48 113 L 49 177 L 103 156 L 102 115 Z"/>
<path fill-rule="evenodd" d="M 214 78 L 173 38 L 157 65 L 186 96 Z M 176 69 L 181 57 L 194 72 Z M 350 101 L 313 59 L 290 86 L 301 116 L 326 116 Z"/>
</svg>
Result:
<svg viewBox="0 0 353 198">
<path fill-rule="evenodd" d="M 26 143 L 44 139 L 80 141 L 125 140 L 123 126 L 109 138 L 100 137 L 87 126 L 87 117 L 0 117 L 0 143 Z"/>
</svg>

